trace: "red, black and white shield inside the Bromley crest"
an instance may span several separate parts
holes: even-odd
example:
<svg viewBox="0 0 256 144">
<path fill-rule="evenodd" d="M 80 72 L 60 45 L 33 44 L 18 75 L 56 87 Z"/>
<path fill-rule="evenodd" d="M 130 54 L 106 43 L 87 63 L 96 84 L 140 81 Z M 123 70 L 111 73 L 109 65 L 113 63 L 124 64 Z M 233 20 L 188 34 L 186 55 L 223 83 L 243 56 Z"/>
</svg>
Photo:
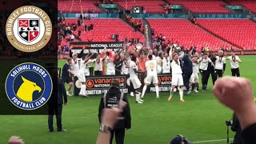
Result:
<svg viewBox="0 0 256 144">
<path fill-rule="evenodd" d="M 26 42 L 32 42 L 40 34 L 39 19 L 18 19 L 18 35 Z"/>
</svg>

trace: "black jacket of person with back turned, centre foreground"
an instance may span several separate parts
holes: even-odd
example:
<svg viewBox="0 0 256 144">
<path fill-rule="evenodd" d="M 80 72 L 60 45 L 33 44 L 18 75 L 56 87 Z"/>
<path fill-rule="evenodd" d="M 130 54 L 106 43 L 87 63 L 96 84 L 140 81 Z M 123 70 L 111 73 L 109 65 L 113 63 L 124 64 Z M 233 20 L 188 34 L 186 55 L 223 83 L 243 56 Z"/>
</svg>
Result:
<svg viewBox="0 0 256 144">
<path fill-rule="evenodd" d="M 117 106 L 120 101 L 121 91 L 117 87 L 110 87 L 110 90 L 106 93 L 106 108 L 111 108 L 113 106 Z M 124 108 L 122 114 L 120 115 L 120 120 L 114 126 L 114 129 L 130 129 L 131 127 L 131 117 L 130 117 L 130 105 L 128 102 L 128 97 L 124 94 L 123 99 L 124 102 L 127 102 L 126 107 Z M 105 108 L 104 98 L 102 97 L 101 102 L 98 106 L 98 120 L 101 122 L 102 110 Z"/>
</svg>

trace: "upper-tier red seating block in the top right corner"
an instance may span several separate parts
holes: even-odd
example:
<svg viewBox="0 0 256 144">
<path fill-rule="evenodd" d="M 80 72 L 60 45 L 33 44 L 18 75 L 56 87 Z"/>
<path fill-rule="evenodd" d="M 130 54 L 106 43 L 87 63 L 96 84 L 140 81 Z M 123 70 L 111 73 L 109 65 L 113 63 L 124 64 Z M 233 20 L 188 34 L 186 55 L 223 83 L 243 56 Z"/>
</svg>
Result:
<svg viewBox="0 0 256 144">
<path fill-rule="evenodd" d="M 254 0 L 226 0 L 225 2 L 233 6 L 244 6 L 246 9 L 256 13 L 256 1 Z"/>
</svg>

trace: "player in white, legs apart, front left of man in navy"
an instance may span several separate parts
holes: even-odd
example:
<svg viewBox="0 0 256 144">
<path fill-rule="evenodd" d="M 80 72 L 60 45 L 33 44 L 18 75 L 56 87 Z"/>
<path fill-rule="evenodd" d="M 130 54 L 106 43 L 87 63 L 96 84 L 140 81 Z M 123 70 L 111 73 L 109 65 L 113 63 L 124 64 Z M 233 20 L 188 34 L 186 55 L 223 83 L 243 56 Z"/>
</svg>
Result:
<svg viewBox="0 0 256 144">
<path fill-rule="evenodd" d="M 170 87 L 170 97 L 168 98 L 168 102 L 171 101 L 173 96 L 173 91 L 176 86 L 179 86 L 179 97 L 180 102 L 185 102 L 183 99 L 183 78 L 182 78 L 182 67 L 181 63 L 178 59 L 178 54 L 173 54 L 173 61 L 170 63 L 171 66 L 171 74 L 172 74 L 172 82 Z"/>
</svg>

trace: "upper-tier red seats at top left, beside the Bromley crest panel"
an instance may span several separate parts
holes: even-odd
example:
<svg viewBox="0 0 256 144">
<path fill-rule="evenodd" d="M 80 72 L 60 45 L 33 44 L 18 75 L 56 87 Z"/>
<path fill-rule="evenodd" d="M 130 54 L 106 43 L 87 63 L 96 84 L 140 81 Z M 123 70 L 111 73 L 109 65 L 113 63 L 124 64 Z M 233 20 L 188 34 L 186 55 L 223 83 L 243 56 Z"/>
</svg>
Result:
<svg viewBox="0 0 256 144">
<path fill-rule="evenodd" d="M 95 6 L 96 1 L 92 0 L 60 0 L 58 1 L 58 10 L 62 13 L 87 13 L 88 10 L 94 10 L 95 14 L 102 13 L 101 10 Z"/>
</svg>

